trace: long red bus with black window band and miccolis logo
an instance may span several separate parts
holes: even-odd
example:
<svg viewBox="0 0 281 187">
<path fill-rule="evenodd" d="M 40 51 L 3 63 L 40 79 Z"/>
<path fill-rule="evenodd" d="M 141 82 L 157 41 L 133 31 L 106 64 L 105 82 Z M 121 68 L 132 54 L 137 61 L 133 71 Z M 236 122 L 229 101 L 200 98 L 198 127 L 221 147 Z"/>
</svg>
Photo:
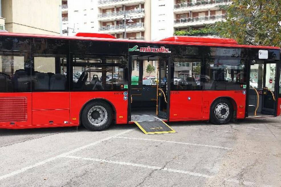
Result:
<svg viewBox="0 0 281 187">
<path fill-rule="evenodd" d="M 0 53 L 0 128 L 97 131 L 150 116 L 226 124 L 280 115 L 278 47 L 0 33 Z"/>
</svg>

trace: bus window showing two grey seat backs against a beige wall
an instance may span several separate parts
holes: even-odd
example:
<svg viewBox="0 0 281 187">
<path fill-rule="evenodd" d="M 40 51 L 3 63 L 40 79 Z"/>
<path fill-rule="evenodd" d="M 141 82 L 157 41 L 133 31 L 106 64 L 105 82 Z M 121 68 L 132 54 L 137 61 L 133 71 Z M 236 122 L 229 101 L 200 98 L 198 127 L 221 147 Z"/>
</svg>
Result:
<svg viewBox="0 0 281 187">
<path fill-rule="evenodd" d="M 36 38 L 32 42 L 34 56 L 32 91 L 67 91 L 68 42 Z"/>
</svg>

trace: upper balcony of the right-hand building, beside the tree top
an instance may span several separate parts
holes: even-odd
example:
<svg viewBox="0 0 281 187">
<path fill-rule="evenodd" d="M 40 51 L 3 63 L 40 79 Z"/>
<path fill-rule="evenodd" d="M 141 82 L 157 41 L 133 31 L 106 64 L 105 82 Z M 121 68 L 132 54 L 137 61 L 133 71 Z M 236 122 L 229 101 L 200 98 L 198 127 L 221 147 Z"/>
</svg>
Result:
<svg viewBox="0 0 281 187">
<path fill-rule="evenodd" d="M 174 13 L 188 13 L 189 11 L 207 11 L 216 9 L 217 5 L 232 3 L 232 0 L 204 0 L 191 3 L 180 3 L 174 5 Z"/>
</svg>

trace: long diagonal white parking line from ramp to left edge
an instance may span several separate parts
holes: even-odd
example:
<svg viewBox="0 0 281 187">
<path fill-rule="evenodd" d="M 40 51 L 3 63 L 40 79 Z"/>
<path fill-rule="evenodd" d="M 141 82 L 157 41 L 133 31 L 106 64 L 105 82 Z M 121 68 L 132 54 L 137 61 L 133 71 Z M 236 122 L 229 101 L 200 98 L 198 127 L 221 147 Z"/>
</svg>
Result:
<svg viewBox="0 0 281 187">
<path fill-rule="evenodd" d="M 11 176 L 14 176 L 14 175 L 17 175 L 17 174 L 20 174 L 20 173 L 22 173 L 22 172 L 25 172 L 26 170 L 29 170 L 29 169 L 32 169 L 32 168 L 41 166 L 41 165 L 43 165 L 43 164 L 45 164 L 45 163 L 48 163 L 48 162 L 53 161 L 53 160 L 55 160 L 55 159 L 58 159 L 58 158 L 60 158 L 60 157 L 65 157 L 65 156 L 67 156 L 67 155 L 70 155 L 70 154 L 72 154 L 72 153 L 75 153 L 75 152 L 77 152 L 77 151 L 80 151 L 80 150 L 82 150 L 82 149 L 85 149 L 85 148 L 87 148 L 87 147 L 91 147 L 91 146 L 93 146 L 93 145 L 96 145 L 96 144 L 101 143 L 101 142 L 103 142 L 103 141 L 107 141 L 107 140 L 112 139 L 112 138 L 114 138 L 114 137 L 116 137 L 116 136 L 125 134 L 125 133 L 130 132 L 130 131 L 133 131 L 133 130 L 134 130 L 134 129 L 130 129 L 130 130 L 127 130 L 127 131 L 118 133 L 118 134 L 116 134 L 116 135 L 109 136 L 109 137 L 107 137 L 107 138 L 104 138 L 104 139 L 95 141 L 95 142 L 93 142 L 93 143 L 90 143 L 90 144 L 87 144 L 87 145 L 78 147 L 78 148 L 73 149 L 73 150 L 71 150 L 71 151 L 68 151 L 68 152 L 66 152 L 66 153 L 62 153 L 62 154 L 57 155 L 57 156 L 55 156 L 55 157 L 51 157 L 51 158 L 46 159 L 46 160 L 44 160 L 44 161 L 35 163 L 35 164 L 33 164 L 33 165 L 29 165 L 29 166 L 24 167 L 24 168 L 21 168 L 21 169 L 19 169 L 19 170 L 15 170 L 15 171 L 13 171 L 13 172 L 11 172 L 11 173 L 8 173 L 8 174 L 5 174 L 5 175 L 0 176 L 0 180 L 3 180 L 3 179 L 5 179 L 5 178 L 11 177 Z"/>
</svg>

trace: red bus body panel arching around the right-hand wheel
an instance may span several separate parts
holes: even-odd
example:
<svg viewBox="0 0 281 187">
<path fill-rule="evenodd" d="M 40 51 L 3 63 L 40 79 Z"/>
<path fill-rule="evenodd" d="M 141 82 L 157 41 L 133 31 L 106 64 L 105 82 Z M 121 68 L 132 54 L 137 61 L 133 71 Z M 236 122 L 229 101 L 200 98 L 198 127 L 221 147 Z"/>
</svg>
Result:
<svg viewBox="0 0 281 187">
<path fill-rule="evenodd" d="M 209 120 L 212 102 L 219 97 L 232 98 L 237 106 L 237 119 L 245 118 L 246 92 L 243 90 L 233 91 L 203 91 L 203 118 Z M 236 108 L 235 108 L 236 110 Z"/>
</svg>

